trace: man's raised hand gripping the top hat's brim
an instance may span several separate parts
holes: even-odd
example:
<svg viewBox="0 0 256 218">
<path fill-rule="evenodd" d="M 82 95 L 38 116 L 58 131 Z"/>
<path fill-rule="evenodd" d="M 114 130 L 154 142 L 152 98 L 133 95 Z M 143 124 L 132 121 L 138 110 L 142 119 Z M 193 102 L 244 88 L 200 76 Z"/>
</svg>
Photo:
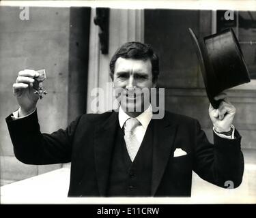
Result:
<svg viewBox="0 0 256 218">
<path fill-rule="evenodd" d="M 216 101 L 223 99 L 218 109 L 214 109 L 211 104 L 209 107 L 209 115 L 214 129 L 220 133 L 230 131 L 236 108 L 229 102 L 225 93 L 220 93 L 214 99 Z"/>
</svg>

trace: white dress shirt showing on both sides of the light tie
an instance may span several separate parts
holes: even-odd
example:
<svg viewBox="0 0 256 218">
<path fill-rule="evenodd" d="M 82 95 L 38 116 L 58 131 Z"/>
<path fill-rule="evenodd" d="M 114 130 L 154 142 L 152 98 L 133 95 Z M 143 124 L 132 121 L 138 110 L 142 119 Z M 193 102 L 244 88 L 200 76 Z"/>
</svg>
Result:
<svg viewBox="0 0 256 218">
<path fill-rule="evenodd" d="M 134 129 L 133 133 L 140 144 L 145 136 L 145 132 L 147 131 L 147 126 L 150 124 L 152 116 L 153 116 L 152 106 L 150 105 L 149 108 L 147 108 L 147 110 L 139 114 L 139 116 L 135 117 L 141 123 L 141 125 L 137 126 Z M 126 128 L 126 121 L 129 118 L 131 117 L 128 114 L 126 114 L 121 107 L 119 107 L 118 119 L 119 119 L 119 125 L 121 128 L 123 126 L 124 128 Z"/>
</svg>

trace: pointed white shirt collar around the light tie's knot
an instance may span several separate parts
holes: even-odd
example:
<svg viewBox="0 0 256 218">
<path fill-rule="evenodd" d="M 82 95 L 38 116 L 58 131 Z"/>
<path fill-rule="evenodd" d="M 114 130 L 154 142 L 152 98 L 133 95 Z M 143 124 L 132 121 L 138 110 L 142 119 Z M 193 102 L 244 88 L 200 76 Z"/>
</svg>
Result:
<svg viewBox="0 0 256 218">
<path fill-rule="evenodd" d="M 135 117 L 143 126 L 144 129 L 147 129 L 147 126 L 150 124 L 150 121 L 152 119 L 153 112 L 152 112 L 152 106 L 147 108 L 143 113 L 139 114 L 139 116 Z M 122 109 L 122 107 L 119 107 L 119 113 L 118 113 L 118 119 L 119 119 L 119 125 L 122 128 L 124 126 L 124 123 L 130 118 L 126 112 Z"/>
</svg>

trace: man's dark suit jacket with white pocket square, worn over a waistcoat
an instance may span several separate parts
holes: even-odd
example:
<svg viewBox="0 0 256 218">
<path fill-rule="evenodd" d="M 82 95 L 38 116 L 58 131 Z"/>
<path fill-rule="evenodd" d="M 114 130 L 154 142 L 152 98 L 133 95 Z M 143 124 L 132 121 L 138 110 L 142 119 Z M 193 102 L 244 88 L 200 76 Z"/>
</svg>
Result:
<svg viewBox="0 0 256 218">
<path fill-rule="evenodd" d="M 65 130 L 41 134 L 37 113 L 13 121 L 6 119 L 16 158 L 28 164 L 65 163 L 71 161 L 68 196 L 106 196 L 119 128 L 118 113 L 83 114 Z M 192 170 L 210 183 L 225 187 L 242 182 L 244 159 L 241 137 L 235 140 L 214 134 L 210 144 L 197 120 L 165 112 L 165 117 L 152 120 L 154 145 L 152 157 L 151 196 L 190 196 Z M 173 157 L 181 148 L 187 155 Z"/>
</svg>

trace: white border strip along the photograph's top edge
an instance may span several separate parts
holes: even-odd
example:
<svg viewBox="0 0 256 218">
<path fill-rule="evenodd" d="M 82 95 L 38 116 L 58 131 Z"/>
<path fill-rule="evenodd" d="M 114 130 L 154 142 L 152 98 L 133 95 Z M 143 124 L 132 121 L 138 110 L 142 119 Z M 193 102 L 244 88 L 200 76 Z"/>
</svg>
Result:
<svg viewBox="0 0 256 218">
<path fill-rule="evenodd" d="M 165 8 L 188 10 L 256 10 L 256 1 L 250 0 L 190 0 L 190 1 L 0 1 L 2 6 L 33 6 L 33 7 L 111 7 L 126 9 Z"/>
</svg>

